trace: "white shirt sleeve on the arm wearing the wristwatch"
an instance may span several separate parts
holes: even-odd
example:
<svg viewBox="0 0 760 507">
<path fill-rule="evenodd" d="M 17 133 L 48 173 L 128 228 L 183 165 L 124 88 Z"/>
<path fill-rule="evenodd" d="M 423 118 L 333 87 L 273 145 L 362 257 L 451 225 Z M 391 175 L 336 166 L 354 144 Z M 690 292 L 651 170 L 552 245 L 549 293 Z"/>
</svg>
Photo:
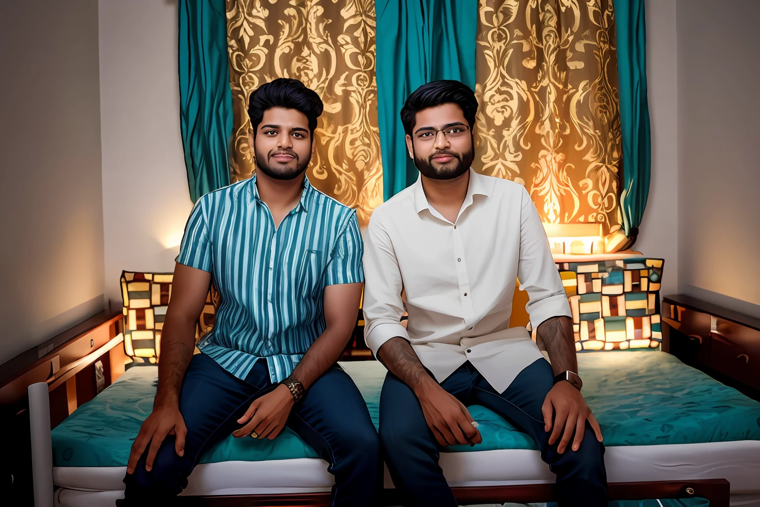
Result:
<svg viewBox="0 0 760 507">
<path fill-rule="evenodd" d="M 537 329 L 547 318 L 566 315 L 572 317 L 565 287 L 554 264 L 546 231 L 538 216 L 535 204 L 525 189 L 522 190 L 520 224 L 520 261 L 518 265 L 520 290 L 526 290 L 530 325 Z"/>
</svg>

